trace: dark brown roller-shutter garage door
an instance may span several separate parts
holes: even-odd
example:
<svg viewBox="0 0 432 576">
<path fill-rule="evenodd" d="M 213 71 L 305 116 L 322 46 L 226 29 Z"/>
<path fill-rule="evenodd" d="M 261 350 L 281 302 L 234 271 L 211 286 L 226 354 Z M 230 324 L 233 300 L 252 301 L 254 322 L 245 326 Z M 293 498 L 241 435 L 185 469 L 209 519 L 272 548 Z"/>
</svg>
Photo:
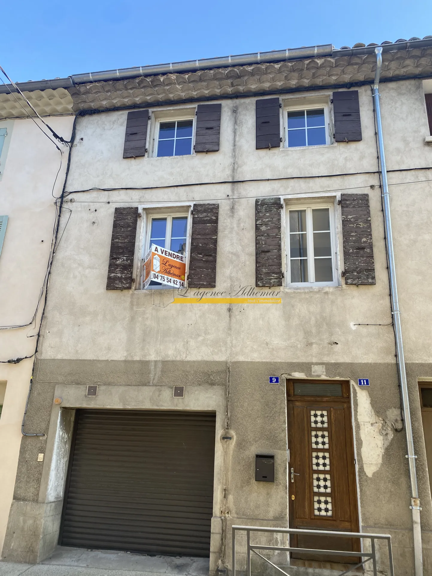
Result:
<svg viewBox="0 0 432 576">
<path fill-rule="evenodd" d="M 59 544 L 210 555 L 215 415 L 77 410 Z"/>
</svg>

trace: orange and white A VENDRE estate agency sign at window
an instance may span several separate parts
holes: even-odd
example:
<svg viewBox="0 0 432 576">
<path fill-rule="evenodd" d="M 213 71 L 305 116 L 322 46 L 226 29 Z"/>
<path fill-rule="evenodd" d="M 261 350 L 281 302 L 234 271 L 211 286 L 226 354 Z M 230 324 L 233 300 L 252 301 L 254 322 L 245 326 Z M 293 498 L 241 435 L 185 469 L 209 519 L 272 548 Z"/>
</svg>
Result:
<svg viewBox="0 0 432 576">
<path fill-rule="evenodd" d="M 186 257 L 151 244 L 142 267 L 142 287 L 150 282 L 160 282 L 164 286 L 183 288 L 186 274 Z"/>
</svg>

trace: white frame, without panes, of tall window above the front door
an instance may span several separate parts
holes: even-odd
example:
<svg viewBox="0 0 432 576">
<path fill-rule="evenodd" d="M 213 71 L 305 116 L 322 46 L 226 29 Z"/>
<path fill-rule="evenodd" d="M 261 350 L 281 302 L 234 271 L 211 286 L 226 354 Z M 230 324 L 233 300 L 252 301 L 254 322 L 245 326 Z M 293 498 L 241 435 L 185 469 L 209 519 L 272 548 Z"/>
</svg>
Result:
<svg viewBox="0 0 432 576">
<path fill-rule="evenodd" d="M 332 282 L 311 282 L 311 278 L 315 278 L 314 270 L 314 252 L 313 252 L 313 229 L 312 229 L 312 210 L 328 208 L 330 215 L 330 241 L 331 241 L 331 259 L 332 259 Z M 306 210 L 306 245 L 308 247 L 308 278 L 309 282 L 291 282 L 291 259 L 290 259 L 290 210 Z M 286 205 L 285 213 L 285 229 L 286 229 L 286 273 L 288 287 L 318 287 L 318 286 L 339 286 L 339 269 L 338 269 L 338 244 L 336 242 L 336 218 L 335 206 L 331 202 L 299 202 L 288 203 Z"/>
</svg>

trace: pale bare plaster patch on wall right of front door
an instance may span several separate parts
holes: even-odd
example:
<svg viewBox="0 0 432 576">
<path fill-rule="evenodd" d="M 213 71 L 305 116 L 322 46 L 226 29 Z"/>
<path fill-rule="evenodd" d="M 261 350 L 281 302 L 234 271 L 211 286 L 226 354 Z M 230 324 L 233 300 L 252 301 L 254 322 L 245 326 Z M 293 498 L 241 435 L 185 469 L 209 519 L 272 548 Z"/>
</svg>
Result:
<svg viewBox="0 0 432 576">
<path fill-rule="evenodd" d="M 363 468 L 369 478 L 372 478 L 382 464 L 384 450 L 393 438 L 391 422 L 377 416 L 370 403 L 369 392 L 355 386 L 357 392 L 357 420 L 360 425 L 362 439 Z M 390 411 L 388 411 L 390 412 Z M 399 413 L 400 414 L 400 413 Z"/>
</svg>

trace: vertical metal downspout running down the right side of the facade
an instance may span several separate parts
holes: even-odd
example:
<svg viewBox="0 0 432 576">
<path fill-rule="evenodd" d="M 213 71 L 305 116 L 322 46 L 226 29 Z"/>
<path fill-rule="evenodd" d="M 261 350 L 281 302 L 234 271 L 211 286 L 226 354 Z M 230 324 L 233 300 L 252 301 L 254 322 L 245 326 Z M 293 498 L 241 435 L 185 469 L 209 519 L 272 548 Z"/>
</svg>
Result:
<svg viewBox="0 0 432 576">
<path fill-rule="evenodd" d="M 380 154 L 381 175 L 382 175 L 382 204 L 384 209 L 384 226 L 385 226 L 387 253 L 388 253 L 392 314 L 393 314 L 393 323 L 395 325 L 397 369 L 399 372 L 399 381 L 402 396 L 402 408 L 405 420 L 405 432 L 407 435 L 408 454 L 406 457 L 408 458 L 408 467 L 410 469 L 410 483 L 411 483 L 410 508 L 412 510 L 412 530 L 414 535 L 415 576 L 423 576 L 422 532 L 420 528 L 420 500 L 419 500 L 417 474 L 415 467 L 416 456 L 414 454 L 414 441 L 412 439 L 410 400 L 408 399 L 407 373 L 405 370 L 405 359 L 402 343 L 402 329 L 400 325 L 399 300 L 397 298 L 395 252 L 393 249 L 392 221 L 390 216 L 390 201 L 389 201 L 389 191 L 387 182 L 387 171 L 385 166 L 384 139 L 382 137 L 380 94 L 378 92 L 378 85 L 380 84 L 380 74 L 382 65 L 381 46 L 375 48 L 375 54 L 377 57 L 377 68 L 375 72 L 375 80 L 373 85 L 373 99 L 375 104 L 375 113 L 377 120 L 378 149 Z"/>
</svg>

